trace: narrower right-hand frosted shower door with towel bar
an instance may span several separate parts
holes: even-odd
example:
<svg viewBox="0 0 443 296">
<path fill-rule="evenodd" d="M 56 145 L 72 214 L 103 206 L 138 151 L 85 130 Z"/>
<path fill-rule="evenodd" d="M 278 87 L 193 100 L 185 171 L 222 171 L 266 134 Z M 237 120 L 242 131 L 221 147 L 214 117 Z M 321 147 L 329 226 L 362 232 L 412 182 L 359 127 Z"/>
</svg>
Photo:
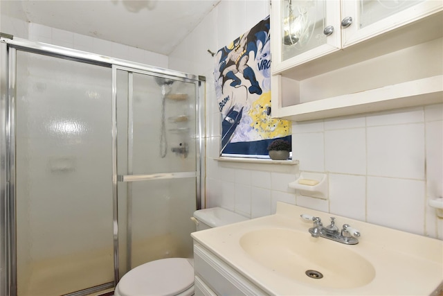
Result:
<svg viewBox="0 0 443 296">
<path fill-rule="evenodd" d="M 149 261 L 192 257 L 198 82 L 134 69 L 114 71 L 122 277 Z"/>
</svg>

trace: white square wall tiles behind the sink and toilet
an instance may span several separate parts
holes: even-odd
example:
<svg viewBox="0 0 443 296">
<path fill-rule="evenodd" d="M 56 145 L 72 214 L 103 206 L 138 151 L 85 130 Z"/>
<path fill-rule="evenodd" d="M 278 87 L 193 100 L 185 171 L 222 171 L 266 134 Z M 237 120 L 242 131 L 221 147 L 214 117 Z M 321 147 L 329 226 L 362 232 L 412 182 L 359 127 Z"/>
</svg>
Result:
<svg viewBox="0 0 443 296">
<path fill-rule="evenodd" d="M 296 180 L 296 170 L 219 167 L 207 172 L 208 206 L 256 218 L 273 214 L 280 200 L 442 239 L 443 220 L 428 206 L 429 198 L 443 195 L 439 114 L 442 104 L 293 123 L 298 169 L 327 173 L 329 200 L 290 189 L 287 185 Z"/>
</svg>

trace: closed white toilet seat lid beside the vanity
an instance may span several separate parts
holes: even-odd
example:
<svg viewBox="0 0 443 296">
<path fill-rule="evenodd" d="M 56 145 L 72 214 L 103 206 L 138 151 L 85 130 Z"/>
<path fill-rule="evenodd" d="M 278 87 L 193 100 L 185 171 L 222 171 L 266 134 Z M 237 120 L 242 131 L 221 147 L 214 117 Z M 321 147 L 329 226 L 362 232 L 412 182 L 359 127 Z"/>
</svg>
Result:
<svg viewBox="0 0 443 296">
<path fill-rule="evenodd" d="M 127 272 L 118 282 L 122 296 L 177 295 L 194 285 L 194 268 L 185 258 L 151 261 Z"/>
</svg>

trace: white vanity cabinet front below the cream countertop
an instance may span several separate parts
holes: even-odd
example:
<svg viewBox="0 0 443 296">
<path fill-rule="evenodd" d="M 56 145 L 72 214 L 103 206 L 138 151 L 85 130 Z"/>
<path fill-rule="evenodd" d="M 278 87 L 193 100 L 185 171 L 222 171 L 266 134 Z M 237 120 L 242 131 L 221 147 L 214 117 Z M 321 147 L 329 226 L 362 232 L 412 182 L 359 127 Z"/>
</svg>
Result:
<svg viewBox="0 0 443 296">
<path fill-rule="evenodd" d="M 195 295 L 268 295 L 199 243 L 194 243 Z"/>
</svg>

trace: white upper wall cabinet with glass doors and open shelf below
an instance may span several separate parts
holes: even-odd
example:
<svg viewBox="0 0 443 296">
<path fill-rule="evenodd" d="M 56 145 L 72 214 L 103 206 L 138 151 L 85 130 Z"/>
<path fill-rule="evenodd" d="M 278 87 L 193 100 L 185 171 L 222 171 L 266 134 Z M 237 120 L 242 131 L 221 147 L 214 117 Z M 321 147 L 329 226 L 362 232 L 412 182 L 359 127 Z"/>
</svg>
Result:
<svg viewBox="0 0 443 296">
<path fill-rule="evenodd" d="M 271 30 L 273 117 L 443 101 L 443 1 L 271 0 Z"/>
</svg>

